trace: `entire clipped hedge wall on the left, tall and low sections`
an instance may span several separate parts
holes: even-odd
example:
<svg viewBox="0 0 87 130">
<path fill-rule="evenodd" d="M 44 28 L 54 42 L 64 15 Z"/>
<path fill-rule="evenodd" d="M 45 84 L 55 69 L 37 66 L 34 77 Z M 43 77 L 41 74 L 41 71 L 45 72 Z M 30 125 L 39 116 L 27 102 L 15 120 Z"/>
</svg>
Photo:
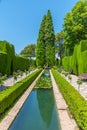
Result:
<svg viewBox="0 0 87 130">
<path fill-rule="evenodd" d="M 14 46 L 7 41 L 0 41 L 0 73 L 13 74 L 16 70 L 29 68 L 29 59 L 16 56 Z"/>
</svg>

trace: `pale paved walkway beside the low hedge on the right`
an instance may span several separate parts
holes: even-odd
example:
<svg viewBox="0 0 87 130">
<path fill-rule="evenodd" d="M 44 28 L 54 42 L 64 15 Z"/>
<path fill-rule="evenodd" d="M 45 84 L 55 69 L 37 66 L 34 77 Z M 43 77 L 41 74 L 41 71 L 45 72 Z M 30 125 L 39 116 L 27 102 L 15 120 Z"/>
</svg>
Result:
<svg viewBox="0 0 87 130">
<path fill-rule="evenodd" d="M 61 74 L 62 75 L 62 74 Z M 87 82 L 82 82 L 78 89 L 77 80 L 79 79 L 76 75 L 71 75 L 72 80 L 69 81 L 68 77 L 62 75 L 86 100 L 87 100 Z"/>
</svg>

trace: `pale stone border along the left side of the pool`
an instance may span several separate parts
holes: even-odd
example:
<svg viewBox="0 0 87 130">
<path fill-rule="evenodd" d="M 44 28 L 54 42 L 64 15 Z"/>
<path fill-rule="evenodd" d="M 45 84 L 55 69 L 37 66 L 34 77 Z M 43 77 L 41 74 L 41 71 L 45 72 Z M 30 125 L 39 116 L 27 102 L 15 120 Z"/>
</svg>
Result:
<svg viewBox="0 0 87 130">
<path fill-rule="evenodd" d="M 44 70 L 43 70 L 44 71 Z M 11 111 L 7 114 L 7 116 L 0 122 L 0 130 L 8 130 L 14 119 L 16 118 L 18 112 L 22 108 L 24 102 L 28 98 L 29 94 L 33 90 L 36 81 L 39 79 L 43 71 L 39 74 L 39 76 L 34 80 L 34 82 L 29 86 L 29 88 L 24 92 L 21 98 L 17 101 Z"/>
</svg>

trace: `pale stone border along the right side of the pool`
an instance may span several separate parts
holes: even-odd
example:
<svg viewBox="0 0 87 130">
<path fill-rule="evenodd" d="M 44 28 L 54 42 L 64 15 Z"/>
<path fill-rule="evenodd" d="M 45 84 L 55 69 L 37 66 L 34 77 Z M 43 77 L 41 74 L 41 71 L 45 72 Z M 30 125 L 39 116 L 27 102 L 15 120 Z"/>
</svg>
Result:
<svg viewBox="0 0 87 130">
<path fill-rule="evenodd" d="M 51 71 L 50 71 L 50 75 L 51 75 L 51 80 L 53 85 L 53 92 L 56 101 L 57 112 L 60 119 L 61 130 L 79 130 L 76 121 L 74 120 L 73 116 L 70 114 L 68 106 L 58 89 L 58 86 L 56 84 L 56 81 Z"/>
</svg>

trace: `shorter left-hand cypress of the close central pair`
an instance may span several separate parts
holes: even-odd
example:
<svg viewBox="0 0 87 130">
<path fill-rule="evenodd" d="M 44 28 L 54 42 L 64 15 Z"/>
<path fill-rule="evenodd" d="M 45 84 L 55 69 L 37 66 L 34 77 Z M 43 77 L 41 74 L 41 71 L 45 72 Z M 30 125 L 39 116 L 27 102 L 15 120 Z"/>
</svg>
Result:
<svg viewBox="0 0 87 130">
<path fill-rule="evenodd" d="M 38 39 L 37 39 L 37 46 L 36 46 L 36 62 L 38 66 L 44 66 L 46 63 L 46 57 L 45 57 L 45 40 L 44 40 L 44 29 L 45 29 L 45 20 L 46 16 L 43 17 L 39 34 L 38 34 Z"/>
</svg>

